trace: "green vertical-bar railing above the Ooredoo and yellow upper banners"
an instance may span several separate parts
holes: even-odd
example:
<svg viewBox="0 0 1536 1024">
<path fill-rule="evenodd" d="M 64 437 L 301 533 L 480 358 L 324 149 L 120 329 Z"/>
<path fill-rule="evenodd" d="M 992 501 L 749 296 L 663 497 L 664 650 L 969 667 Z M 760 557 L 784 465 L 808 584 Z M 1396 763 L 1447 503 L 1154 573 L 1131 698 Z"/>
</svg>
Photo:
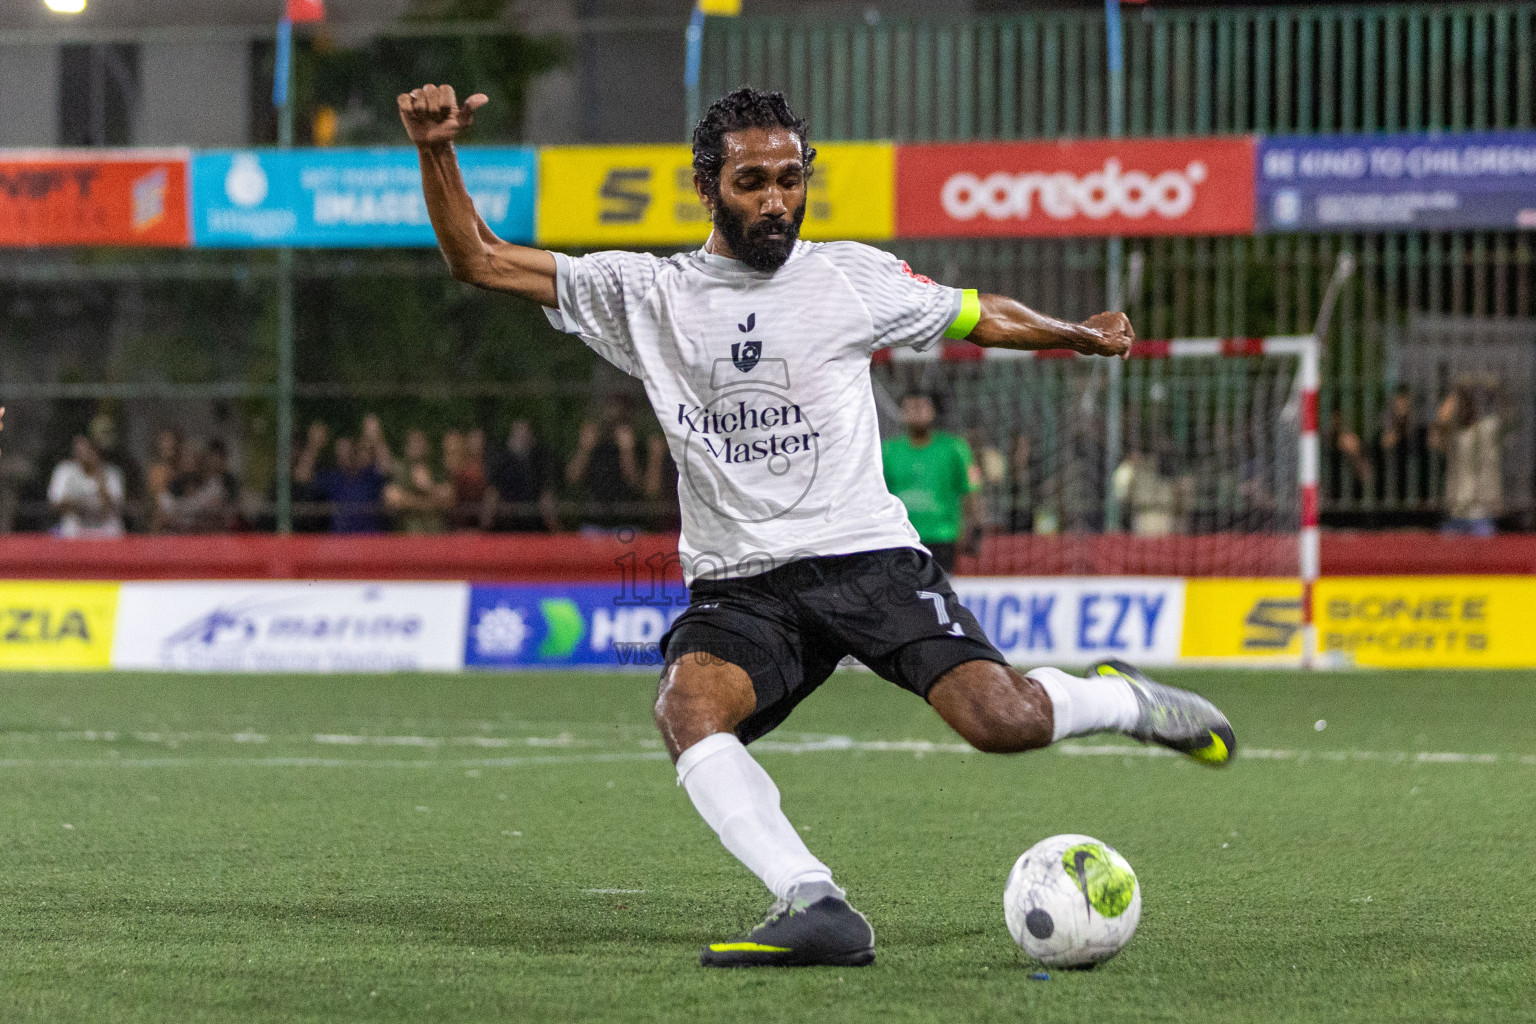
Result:
<svg viewBox="0 0 1536 1024">
<path fill-rule="evenodd" d="M 1127 8 L 1130 135 L 1536 126 L 1536 5 Z M 822 138 L 1107 132 L 1104 20 L 716 18 L 703 95 L 783 89 Z"/>
</svg>

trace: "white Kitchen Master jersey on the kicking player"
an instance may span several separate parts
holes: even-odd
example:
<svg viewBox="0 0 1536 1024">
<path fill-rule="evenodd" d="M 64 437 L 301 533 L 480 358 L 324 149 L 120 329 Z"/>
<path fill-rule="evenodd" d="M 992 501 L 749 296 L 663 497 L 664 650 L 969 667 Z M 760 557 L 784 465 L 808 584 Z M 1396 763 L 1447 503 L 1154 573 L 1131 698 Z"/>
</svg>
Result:
<svg viewBox="0 0 1536 1024">
<path fill-rule="evenodd" d="M 869 356 L 935 344 L 963 292 L 846 241 L 771 273 L 705 250 L 554 263 L 550 322 L 641 378 L 667 433 L 690 583 L 922 547 L 885 487 Z"/>
</svg>

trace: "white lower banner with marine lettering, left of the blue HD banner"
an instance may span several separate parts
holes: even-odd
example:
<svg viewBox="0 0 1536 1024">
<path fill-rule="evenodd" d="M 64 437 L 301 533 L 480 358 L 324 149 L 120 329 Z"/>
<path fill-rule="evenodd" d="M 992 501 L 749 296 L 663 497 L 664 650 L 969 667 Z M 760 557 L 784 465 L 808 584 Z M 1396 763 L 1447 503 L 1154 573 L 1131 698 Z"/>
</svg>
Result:
<svg viewBox="0 0 1536 1024">
<path fill-rule="evenodd" d="M 123 583 L 112 666 L 455 671 L 467 605 L 467 583 Z"/>
</svg>

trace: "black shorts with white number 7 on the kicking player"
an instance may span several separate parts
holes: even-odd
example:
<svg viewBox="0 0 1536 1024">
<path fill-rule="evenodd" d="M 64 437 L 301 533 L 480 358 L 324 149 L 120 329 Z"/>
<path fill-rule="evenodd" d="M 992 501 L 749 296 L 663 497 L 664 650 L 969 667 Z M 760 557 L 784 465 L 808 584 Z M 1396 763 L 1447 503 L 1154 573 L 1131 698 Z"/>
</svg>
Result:
<svg viewBox="0 0 1536 1024">
<path fill-rule="evenodd" d="M 719 657 L 753 680 L 742 743 L 768 734 L 852 654 L 926 700 L 965 662 L 1006 665 L 949 577 L 925 551 L 888 548 L 800 559 L 759 576 L 696 580 L 662 654 Z"/>
</svg>

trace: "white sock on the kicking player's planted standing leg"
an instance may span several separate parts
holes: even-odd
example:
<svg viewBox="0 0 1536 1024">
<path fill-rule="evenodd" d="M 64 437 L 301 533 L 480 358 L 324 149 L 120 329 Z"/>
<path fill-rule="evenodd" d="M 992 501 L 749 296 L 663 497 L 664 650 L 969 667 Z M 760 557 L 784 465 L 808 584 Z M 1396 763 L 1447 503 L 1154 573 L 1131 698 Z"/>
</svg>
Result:
<svg viewBox="0 0 1536 1024">
<path fill-rule="evenodd" d="M 780 900 L 803 883 L 833 884 L 831 869 L 805 847 L 779 809 L 779 788 L 734 734 L 716 732 L 684 751 L 677 785 L 725 849 Z"/>
</svg>

